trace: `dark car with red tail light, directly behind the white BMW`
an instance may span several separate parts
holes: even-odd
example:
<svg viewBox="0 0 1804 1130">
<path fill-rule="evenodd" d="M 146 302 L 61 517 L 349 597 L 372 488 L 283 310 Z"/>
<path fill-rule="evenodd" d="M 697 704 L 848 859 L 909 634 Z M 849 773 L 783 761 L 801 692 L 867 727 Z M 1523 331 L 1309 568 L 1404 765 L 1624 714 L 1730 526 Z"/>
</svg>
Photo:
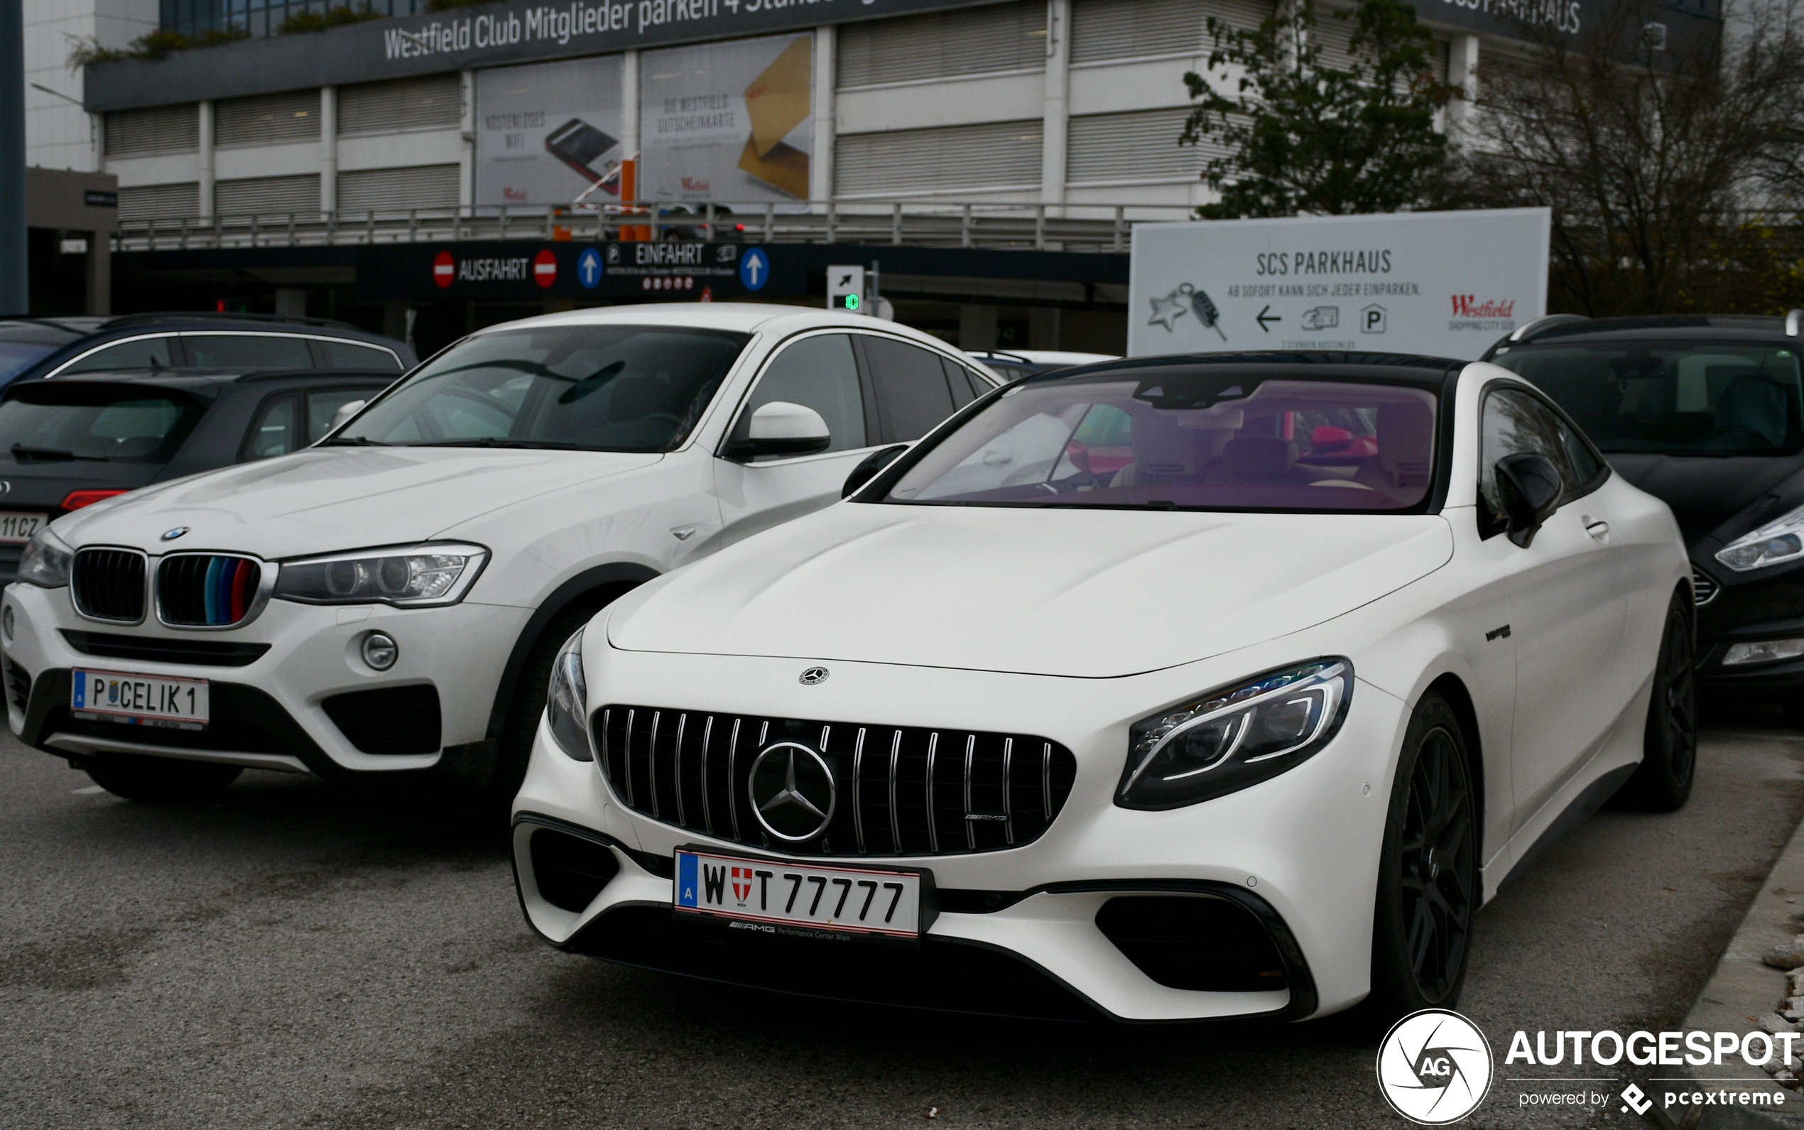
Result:
<svg viewBox="0 0 1804 1130">
<path fill-rule="evenodd" d="M 0 585 L 49 522 L 135 487 L 318 440 L 399 372 L 168 370 L 20 381 L 0 395 Z"/>
</svg>

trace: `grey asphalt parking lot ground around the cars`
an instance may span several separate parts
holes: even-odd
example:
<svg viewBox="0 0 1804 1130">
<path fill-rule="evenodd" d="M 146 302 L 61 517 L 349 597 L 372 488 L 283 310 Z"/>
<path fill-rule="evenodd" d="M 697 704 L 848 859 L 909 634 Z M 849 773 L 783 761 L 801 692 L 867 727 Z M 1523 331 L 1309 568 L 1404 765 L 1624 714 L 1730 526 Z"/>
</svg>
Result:
<svg viewBox="0 0 1804 1130">
<path fill-rule="evenodd" d="M 0 1126 L 1400 1126 L 1375 1040 L 971 1020 L 769 996 L 538 942 L 505 838 L 410 796 L 245 773 L 117 800 L 0 738 Z M 1674 1025 L 1804 810 L 1804 735 L 1723 715 L 1690 807 L 1606 809 L 1477 917 L 1461 1011 Z M 1604 1072 L 1593 1072 L 1604 1074 Z M 1624 1076 L 1624 1081 L 1627 1078 Z"/>
</svg>

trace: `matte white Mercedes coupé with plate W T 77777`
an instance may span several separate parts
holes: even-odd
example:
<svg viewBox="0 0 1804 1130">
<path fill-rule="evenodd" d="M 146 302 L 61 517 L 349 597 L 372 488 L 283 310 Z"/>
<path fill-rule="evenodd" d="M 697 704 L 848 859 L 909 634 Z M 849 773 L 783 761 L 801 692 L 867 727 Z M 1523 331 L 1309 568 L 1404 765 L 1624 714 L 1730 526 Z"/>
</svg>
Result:
<svg viewBox="0 0 1804 1130">
<path fill-rule="evenodd" d="M 514 801 L 548 942 L 906 1005 L 1385 1018 L 1458 1000 L 1537 848 L 1690 792 L 1678 527 L 1503 368 L 1115 361 L 877 458 L 565 644 Z"/>
</svg>

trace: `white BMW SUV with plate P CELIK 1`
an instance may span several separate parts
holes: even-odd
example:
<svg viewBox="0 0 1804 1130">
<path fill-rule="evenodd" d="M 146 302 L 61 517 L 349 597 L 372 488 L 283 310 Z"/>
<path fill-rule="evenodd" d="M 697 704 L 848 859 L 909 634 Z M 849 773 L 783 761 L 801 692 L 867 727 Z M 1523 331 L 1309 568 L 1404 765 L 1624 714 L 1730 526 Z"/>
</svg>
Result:
<svg viewBox="0 0 1804 1130">
<path fill-rule="evenodd" d="M 54 522 L 0 599 L 7 720 L 137 800 L 244 767 L 512 796 L 597 608 L 841 496 L 996 377 L 776 305 L 482 330 L 319 446 Z"/>
</svg>

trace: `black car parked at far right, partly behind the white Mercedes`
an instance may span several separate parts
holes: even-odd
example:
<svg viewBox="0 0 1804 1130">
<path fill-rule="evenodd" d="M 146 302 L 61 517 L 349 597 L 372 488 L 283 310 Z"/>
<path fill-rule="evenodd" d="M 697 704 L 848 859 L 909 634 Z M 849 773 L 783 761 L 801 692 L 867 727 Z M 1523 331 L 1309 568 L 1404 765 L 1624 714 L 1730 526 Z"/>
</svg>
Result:
<svg viewBox="0 0 1804 1130">
<path fill-rule="evenodd" d="M 1804 310 L 1533 321 L 1485 354 L 1533 381 L 1690 551 L 1699 686 L 1804 720 Z"/>
</svg>

